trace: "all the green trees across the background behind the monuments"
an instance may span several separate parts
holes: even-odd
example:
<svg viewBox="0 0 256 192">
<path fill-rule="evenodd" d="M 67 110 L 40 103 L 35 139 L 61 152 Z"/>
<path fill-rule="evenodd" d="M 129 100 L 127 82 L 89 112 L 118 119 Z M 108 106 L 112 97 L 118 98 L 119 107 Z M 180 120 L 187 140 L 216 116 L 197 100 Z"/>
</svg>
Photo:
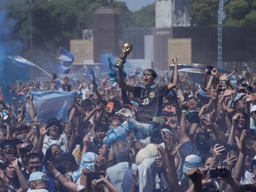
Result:
<svg viewBox="0 0 256 192">
<path fill-rule="evenodd" d="M 190 0 L 191 25 L 216 26 L 218 4 L 219 0 Z M 13 0 L 8 12 L 17 20 L 13 32 L 25 48 L 31 12 L 33 46 L 68 49 L 70 39 L 82 38 L 82 30 L 92 28 L 93 12 L 101 5 L 101 0 Z M 109 5 L 119 10 L 121 28 L 155 27 L 155 3 L 137 12 L 131 12 L 124 2 L 112 1 Z M 224 25 L 256 26 L 256 0 L 229 0 L 224 12 Z"/>
</svg>

